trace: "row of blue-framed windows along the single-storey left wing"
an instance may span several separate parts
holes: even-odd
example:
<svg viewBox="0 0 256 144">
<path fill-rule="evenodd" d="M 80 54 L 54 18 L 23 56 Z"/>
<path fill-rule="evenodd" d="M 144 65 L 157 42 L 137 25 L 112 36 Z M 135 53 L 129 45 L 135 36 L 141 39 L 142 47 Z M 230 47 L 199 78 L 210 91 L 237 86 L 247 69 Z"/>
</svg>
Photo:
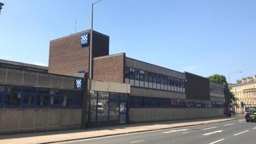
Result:
<svg viewBox="0 0 256 144">
<path fill-rule="evenodd" d="M 0 85 L 0 106 L 81 107 L 81 92 Z"/>
</svg>

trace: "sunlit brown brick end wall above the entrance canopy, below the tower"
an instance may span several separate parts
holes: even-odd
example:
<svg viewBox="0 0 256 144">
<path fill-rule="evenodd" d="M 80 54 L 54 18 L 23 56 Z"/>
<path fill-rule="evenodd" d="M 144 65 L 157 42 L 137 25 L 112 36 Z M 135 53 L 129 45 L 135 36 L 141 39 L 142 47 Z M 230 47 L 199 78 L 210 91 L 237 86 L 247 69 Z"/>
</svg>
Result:
<svg viewBox="0 0 256 144">
<path fill-rule="evenodd" d="M 94 58 L 93 79 L 124 83 L 125 53 Z"/>
</svg>

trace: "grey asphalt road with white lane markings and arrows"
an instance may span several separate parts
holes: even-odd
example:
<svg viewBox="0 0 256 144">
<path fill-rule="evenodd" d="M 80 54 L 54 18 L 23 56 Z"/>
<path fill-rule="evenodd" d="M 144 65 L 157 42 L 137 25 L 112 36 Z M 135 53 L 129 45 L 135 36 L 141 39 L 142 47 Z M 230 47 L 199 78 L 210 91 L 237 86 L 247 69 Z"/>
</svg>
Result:
<svg viewBox="0 0 256 144">
<path fill-rule="evenodd" d="M 245 119 L 205 124 L 197 126 L 179 127 L 177 129 L 157 130 L 133 134 L 123 134 L 111 137 L 77 140 L 60 143 L 187 143 L 187 144 L 213 144 L 213 143 L 256 143 L 256 122 L 246 123 Z M 58 144 L 60 144 L 58 143 Z"/>
</svg>

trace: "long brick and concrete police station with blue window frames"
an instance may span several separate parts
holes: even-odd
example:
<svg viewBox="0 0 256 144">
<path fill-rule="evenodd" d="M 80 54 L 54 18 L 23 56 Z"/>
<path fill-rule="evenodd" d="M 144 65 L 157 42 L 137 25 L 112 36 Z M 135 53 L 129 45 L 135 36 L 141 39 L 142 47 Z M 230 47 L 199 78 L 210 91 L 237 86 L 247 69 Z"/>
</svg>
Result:
<svg viewBox="0 0 256 144">
<path fill-rule="evenodd" d="M 0 60 L 1 133 L 225 116 L 224 85 L 109 55 L 109 36 L 97 31 L 89 79 L 89 34 L 51 41 L 49 67 Z"/>
</svg>

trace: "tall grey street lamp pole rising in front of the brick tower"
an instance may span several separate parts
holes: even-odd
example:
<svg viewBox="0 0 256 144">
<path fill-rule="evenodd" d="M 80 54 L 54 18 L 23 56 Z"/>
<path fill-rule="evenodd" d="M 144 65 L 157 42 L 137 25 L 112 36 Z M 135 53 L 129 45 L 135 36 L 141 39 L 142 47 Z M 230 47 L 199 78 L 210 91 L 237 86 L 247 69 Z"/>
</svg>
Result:
<svg viewBox="0 0 256 144">
<path fill-rule="evenodd" d="M 102 1 L 102 0 L 100 0 Z M 93 38 L 93 5 L 99 3 L 100 1 L 97 1 L 95 3 L 92 3 L 92 11 L 91 11 L 91 37 L 90 37 L 90 71 L 89 71 L 89 79 L 90 79 L 90 88 L 91 91 L 91 79 L 92 79 L 92 38 Z"/>
</svg>

